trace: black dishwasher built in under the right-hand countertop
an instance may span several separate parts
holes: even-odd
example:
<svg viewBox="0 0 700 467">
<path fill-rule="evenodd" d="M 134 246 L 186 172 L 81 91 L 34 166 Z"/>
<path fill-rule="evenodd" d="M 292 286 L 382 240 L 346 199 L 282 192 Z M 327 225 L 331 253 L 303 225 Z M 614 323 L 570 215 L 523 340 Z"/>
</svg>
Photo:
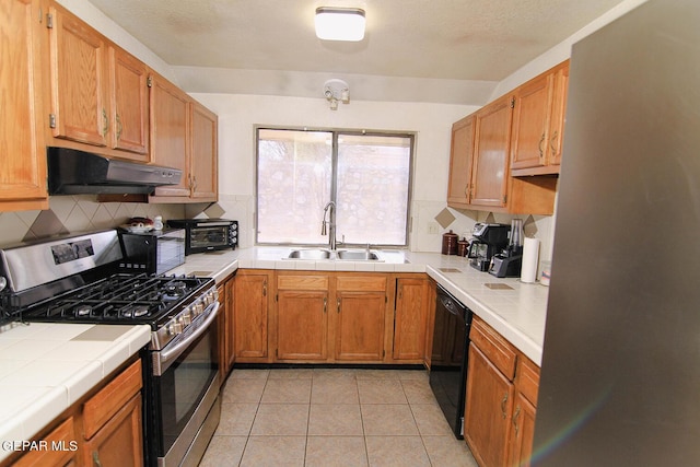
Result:
<svg viewBox="0 0 700 467">
<path fill-rule="evenodd" d="M 430 387 L 457 439 L 464 437 L 471 310 L 438 285 Z"/>
</svg>

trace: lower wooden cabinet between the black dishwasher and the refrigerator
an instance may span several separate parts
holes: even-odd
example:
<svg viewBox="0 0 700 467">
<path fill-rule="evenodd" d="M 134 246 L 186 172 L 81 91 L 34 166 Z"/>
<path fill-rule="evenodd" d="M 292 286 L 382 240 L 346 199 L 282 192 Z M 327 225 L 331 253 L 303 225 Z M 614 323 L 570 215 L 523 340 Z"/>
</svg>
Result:
<svg viewBox="0 0 700 467">
<path fill-rule="evenodd" d="M 469 337 L 465 441 L 481 467 L 529 466 L 539 367 L 479 317 Z"/>
</svg>

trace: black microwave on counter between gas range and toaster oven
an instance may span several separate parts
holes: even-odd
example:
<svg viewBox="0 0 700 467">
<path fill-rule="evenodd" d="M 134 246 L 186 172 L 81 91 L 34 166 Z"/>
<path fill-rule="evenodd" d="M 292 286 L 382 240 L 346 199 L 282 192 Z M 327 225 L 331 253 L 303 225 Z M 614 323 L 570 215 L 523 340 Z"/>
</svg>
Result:
<svg viewBox="0 0 700 467">
<path fill-rule="evenodd" d="M 119 230 L 127 271 L 161 275 L 185 262 L 185 230 L 165 229 L 151 232 Z"/>
</svg>

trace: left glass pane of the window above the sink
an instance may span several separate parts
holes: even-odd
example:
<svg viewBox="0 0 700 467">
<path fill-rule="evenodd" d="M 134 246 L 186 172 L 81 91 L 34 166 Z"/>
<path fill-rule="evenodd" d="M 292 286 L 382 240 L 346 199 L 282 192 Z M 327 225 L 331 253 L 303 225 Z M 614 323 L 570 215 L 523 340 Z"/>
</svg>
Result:
<svg viewBox="0 0 700 467">
<path fill-rule="evenodd" d="M 258 130 L 258 243 L 320 244 L 332 133 Z"/>
</svg>

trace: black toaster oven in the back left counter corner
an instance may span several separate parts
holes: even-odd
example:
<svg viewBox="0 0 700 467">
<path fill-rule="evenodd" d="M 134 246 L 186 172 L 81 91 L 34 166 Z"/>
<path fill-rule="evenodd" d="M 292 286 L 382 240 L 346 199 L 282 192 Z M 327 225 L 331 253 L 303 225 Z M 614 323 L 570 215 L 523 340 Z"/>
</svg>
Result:
<svg viewBox="0 0 700 467">
<path fill-rule="evenodd" d="M 238 245 L 238 221 L 229 219 L 171 219 L 167 225 L 185 229 L 185 255 L 234 249 Z"/>
</svg>

